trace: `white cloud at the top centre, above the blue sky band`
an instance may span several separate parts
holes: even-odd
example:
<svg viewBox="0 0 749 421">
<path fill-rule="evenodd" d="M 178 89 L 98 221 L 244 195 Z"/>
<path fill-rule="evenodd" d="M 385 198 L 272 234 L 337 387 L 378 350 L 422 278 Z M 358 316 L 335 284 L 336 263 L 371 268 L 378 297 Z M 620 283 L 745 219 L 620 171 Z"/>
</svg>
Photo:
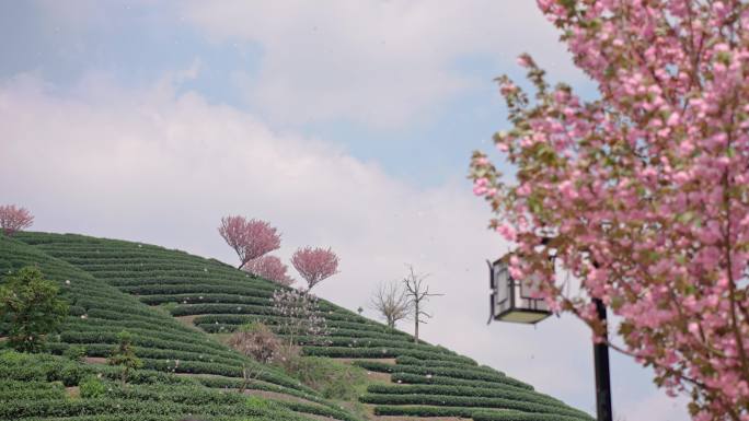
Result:
<svg viewBox="0 0 749 421">
<path fill-rule="evenodd" d="M 281 124 L 413 122 L 496 75 L 468 77 L 459 71 L 463 59 L 491 60 L 499 73 L 527 50 L 553 73 L 579 77 L 533 1 L 185 4 L 187 21 L 215 39 L 262 47 L 257 74 L 235 80 L 251 104 Z"/>
</svg>

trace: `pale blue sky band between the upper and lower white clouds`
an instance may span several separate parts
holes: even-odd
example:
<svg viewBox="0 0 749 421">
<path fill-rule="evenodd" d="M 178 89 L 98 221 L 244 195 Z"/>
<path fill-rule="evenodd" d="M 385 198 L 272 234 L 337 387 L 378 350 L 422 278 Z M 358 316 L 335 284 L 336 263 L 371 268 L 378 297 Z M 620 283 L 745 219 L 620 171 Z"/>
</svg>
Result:
<svg viewBox="0 0 749 421">
<path fill-rule="evenodd" d="M 267 114 L 262 104 L 247 98 L 242 81 L 238 80 L 239 73 L 243 80 L 257 78 L 266 55 L 262 43 L 239 36 L 223 39 L 206 36 L 201 27 L 185 22 L 184 12 L 177 5 L 5 1 L 0 16 L 0 36 L 5 39 L 0 44 L 3 57 L 0 75 L 31 73 L 53 84 L 60 94 L 74 94 L 85 78 L 106 78 L 119 86 L 135 87 L 197 63 L 198 74 L 180 83 L 178 90 L 195 91 L 215 104 Z M 535 24 L 544 24 L 540 16 L 534 17 Z M 323 31 L 322 26 L 318 31 Z M 314 22 L 309 23 L 309 32 L 315 32 Z M 430 46 L 427 42 L 425 47 L 440 46 Z M 560 49 L 558 45 L 554 47 Z M 502 48 L 497 51 L 503 52 Z M 548 56 L 539 52 L 542 59 Z M 521 77 L 511 66 L 514 56 L 510 55 L 503 57 L 469 49 L 465 54 L 457 51 L 448 59 L 440 71 L 464 79 L 468 86 L 413 110 L 414 118 L 407 121 L 385 122 L 382 127 L 377 117 L 372 117 L 374 124 L 370 125 L 344 114 L 270 119 L 269 124 L 279 130 L 291 129 L 335 142 L 354 156 L 373 160 L 389 173 L 420 186 L 442 184 L 459 173 L 462 175 L 470 151 L 486 147 L 491 135 L 503 124 L 504 108 L 493 78 L 503 72 Z M 290 62 L 304 66 L 301 59 Z M 425 68 L 425 71 L 434 69 Z M 367 98 L 357 101 L 366 103 Z M 371 109 L 373 115 L 379 113 L 378 105 Z M 414 162 L 416 155 L 420 159 Z"/>
</svg>

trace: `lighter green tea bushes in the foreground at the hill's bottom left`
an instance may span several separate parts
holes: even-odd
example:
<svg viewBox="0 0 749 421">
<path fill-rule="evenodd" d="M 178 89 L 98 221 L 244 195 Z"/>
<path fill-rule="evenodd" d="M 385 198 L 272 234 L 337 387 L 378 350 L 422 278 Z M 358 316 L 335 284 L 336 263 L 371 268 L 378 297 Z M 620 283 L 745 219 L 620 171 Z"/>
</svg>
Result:
<svg viewBox="0 0 749 421">
<path fill-rule="evenodd" d="M 66 382 L 68 372 L 77 373 L 73 382 Z M 333 404 L 301 391 L 295 391 L 295 396 L 316 400 L 316 404 L 257 399 L 227 390 L 228 386 L 233 389 L 238 383 L 217 384 L 231 379 L 185 378 L 137 370 L 130 376 L 130 384 L 122 385 L 115 382 L 118 375 L 118 367 L 113 366 L 87 365 L 49 354 L 0 352 L 0 376 L 4 378 L 0 382 L 0 420 L 34 417 L 79 419 L 81 416 L 104 416 L 113 408 L 117 408 L 120 414 L 171 416 L 172 420 L 177 416 L 191 413 L 233 414 L 252 417 L 253 420 L 301 420 L 291 413 L 292 411 L 341 421 L 359 421 Z M 62 386 L 64 382 L 68 386 L 80 385 L 81 399 L 68 397 Z M 97 387 L 89 387 L 92 382 L 99 384 Z M 261 386 L 260 389 L 276 393 L 289 391 L 275 385 L 266 384 L 265 388 L 258 384 L 252 386 Z"/>
</svg>

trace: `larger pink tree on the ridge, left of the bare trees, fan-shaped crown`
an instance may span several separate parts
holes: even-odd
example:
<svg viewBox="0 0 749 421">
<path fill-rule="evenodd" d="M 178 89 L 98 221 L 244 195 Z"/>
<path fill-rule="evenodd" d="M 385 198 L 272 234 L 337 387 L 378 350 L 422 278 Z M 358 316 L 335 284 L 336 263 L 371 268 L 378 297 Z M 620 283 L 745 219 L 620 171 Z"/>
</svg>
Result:
<svg viewBox="0 0 749 421">
<path fill-rule="evenodd" d="M 221 218 L 218 229 L 221 237 L 237 252 L 239 269 L 250 260 L 256 259 L 280 247 L 280 234 L 269 223 L 244 217 Z"/>
</svg>

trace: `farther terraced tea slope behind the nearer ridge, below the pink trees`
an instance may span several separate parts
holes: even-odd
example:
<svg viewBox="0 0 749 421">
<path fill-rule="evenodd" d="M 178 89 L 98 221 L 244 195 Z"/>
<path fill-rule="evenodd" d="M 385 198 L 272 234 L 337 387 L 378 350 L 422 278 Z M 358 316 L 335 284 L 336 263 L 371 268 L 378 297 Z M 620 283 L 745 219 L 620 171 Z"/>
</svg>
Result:
<svg viewBox="0 0 749 421">
<path fill-rule="evenodd" d="M 219 261 L 157 246 L 80 235 L 22 233 L 18 238 L 135 295 L 141 303 L 161 305 L 175 317 L 188 318 L 206 332 L 226 334 L 243 323 L 258 320 L 284 335 L 276 326 L 279 319 L 269 301 L 277 286 Z M 370 372 L 391 373 L 393 384 L 371 385 L 360 397 L 376 414 L 589 420 L 587 414 L 535 393 L 530 385 L 477 366 L 471 359 L 445 348 L 414 343 L 404 332 L 329 302 L 322 302 L 322 309 L 334 328 L 331 343 L 306 346 L 304 353 L 358 359 L 355 364 Z M 64 339 L 72 338 L 64 335 Z M 301 341 L 303 344 L 304 338 Z M 149 349 L 143 347 L 141 352 L 153 352 Z M 394 364 L 392 359 L 396 359 Z M 293 387 L 286 379 L 274 379 L 268 381 Z"/>
</svg>

